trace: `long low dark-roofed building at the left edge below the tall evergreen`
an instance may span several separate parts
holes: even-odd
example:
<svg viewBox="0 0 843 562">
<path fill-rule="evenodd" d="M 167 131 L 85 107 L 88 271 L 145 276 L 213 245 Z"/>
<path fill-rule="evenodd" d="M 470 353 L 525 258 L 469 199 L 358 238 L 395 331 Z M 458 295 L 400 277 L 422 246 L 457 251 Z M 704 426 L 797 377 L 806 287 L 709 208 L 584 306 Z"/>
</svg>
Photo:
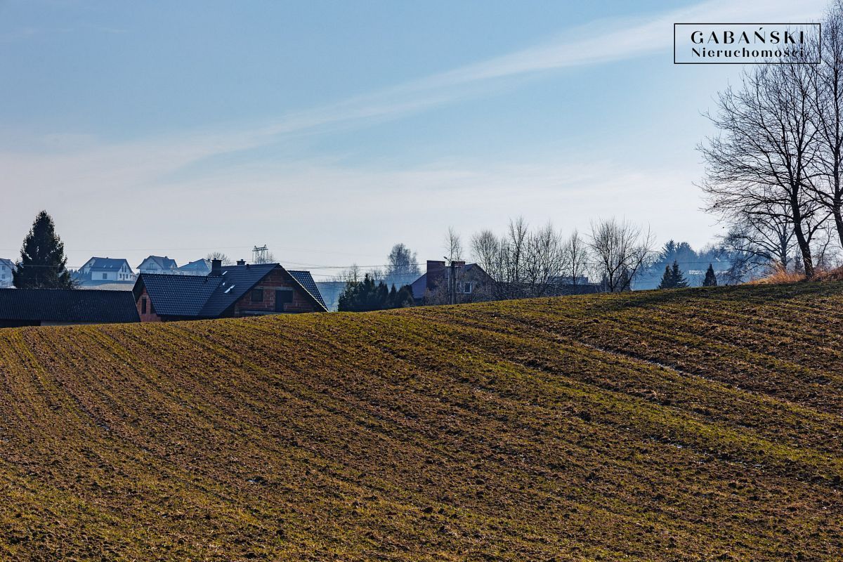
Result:
<svg viewBox="0 0 843 562">
<path fill-rule="evenodd" d="M 0 289 L 0 328 L 138 322 L 128 291 Z"/>
</svg>

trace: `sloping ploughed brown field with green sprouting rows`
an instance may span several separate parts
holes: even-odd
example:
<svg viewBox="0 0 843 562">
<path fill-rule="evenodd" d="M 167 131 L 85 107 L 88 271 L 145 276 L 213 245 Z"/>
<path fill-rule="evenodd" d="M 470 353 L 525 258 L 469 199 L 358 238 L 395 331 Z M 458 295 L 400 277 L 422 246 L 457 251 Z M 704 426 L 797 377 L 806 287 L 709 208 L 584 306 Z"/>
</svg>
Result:
<svg viewBox="0 0 843 562">
<path fill-rule="evenodd" d="M 0 330 L 0 559 L 840 559 L 843 284 Z"/>
</svg>

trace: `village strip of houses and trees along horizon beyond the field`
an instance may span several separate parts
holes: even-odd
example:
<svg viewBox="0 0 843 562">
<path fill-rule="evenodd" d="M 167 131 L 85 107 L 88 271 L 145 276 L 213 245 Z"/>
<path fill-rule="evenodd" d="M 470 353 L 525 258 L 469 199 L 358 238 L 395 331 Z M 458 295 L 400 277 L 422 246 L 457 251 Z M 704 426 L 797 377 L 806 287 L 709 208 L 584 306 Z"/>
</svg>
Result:
<svg viewBox="0 0 843 562">
<path fill-rule="evenodd" d="M 61 238 L 42 211 L 24 238 L 21 259 L 0 259 L 0 328 L 364 312 L 716 285 L 728 267 L 728 261 L 697 254 L 685 243 L 671 241 L 656 254 L 651 239 L 628 225 L 614 219 L 604 225 L 609 233 L 627 232 L 631 240 L 638 240 L 636 251 L 614 267 L 589 262 L 599 254 L 589 253 L 576 232 L 567 239 L 550 227 L 530 232 L 519 219 L 512 223 L 510 238 L 495 238 L 488 232 L 472 238 L 477 263 L 461 259 L 461 241 L 451 230 L 446 238 L 450 257 L 443 260 L 420 264 L 415 252 L 395 244 L 383 270 L 362 272 L 352 265 L 333 280 L 316 282 L 309 270 L 288 269 L 276 262 L 266 244 L 252 249 L 250 262 L 232 263 L 217 252 L 179 265 L 167 255 L 149 255 L 133 268 L 123 258 L 94 256 L 78 269 L 68 269 Z M 683 270 L 679 257 L 691 266 L 707 261 L 708 270 Z M 595 270 L 596 282 L 588 275 Z"/>
</svg>

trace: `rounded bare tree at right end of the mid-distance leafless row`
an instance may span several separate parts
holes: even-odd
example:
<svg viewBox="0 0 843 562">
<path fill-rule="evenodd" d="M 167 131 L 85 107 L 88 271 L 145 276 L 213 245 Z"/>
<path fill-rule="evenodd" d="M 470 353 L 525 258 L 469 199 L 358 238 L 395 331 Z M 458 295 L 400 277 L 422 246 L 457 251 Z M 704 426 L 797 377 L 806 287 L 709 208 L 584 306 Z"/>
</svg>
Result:
<svg viewBox="0 0 843 562">
<path fill-rule="evenodd" d="M 649 230 L 644 232 L 642 227 L 626 220 L 618 221 L 613 217 L 591 224 L 588 245 L 609 292 L 631 289 L 632 281 L 642 274 L 652 259 L 653 244 Z"/>
</svg>

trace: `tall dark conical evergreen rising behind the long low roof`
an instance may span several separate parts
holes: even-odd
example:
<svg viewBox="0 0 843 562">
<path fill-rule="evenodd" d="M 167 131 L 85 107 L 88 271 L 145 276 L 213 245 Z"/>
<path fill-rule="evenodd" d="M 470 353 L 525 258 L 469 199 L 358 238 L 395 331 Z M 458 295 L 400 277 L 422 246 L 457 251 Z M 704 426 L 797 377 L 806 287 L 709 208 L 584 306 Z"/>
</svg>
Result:
<svg viewBox="0 0 843 562">
<path fill-rule="evenodd" d="M 40 211 L 20 249 L 20 261 L 13 273 L 19 289 L 72 289 L 67 271 L 64 243 L 56 234 L 56 225 L 47 211 Z"/>
</svg>

